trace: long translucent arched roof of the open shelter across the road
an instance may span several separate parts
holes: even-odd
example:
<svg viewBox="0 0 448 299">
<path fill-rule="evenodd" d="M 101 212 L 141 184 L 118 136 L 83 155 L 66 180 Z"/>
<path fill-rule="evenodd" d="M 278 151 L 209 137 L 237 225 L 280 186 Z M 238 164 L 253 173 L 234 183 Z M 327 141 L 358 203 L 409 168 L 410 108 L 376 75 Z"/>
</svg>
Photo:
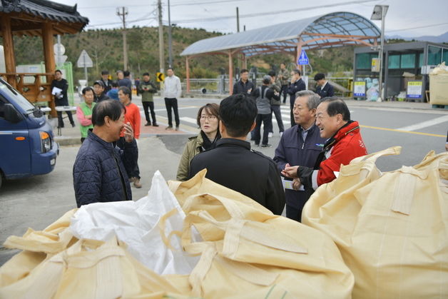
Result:
<svg viewBox="0 0 448 299">
<path fill-rule="evenodd" d="M 380 29 L 358 14 L 340 11 L 307 19 L 275 24 L 259 29 L 202 39 L 188 46 L 181 56 L 223 53 L 240 49 L 245 56 L 295 52 L 299 39 L 302 49 L 329 48 L 347 44 L 374 44 Z"/>
</svg>

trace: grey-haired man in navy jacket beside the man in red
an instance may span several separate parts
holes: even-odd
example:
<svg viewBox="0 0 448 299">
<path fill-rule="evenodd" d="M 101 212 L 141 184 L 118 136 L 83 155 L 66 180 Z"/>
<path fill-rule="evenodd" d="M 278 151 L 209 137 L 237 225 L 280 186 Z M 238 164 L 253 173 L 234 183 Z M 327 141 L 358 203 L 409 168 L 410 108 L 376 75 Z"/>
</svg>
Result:
<svg viewBox="0 0 448 299">
<path fill-rule="evenodd" d="M 322 151 L 325 138 L 320 137 L 320 130 L 315 125 L 316 108 L 320 96 L 312 91 L 299 91 L 295 99 L 293 113 L 297 125 L 288 128 L 280 138 L 275 149 L 274 161 L 279 173 L 285 167 L 303 165 L 313 167 L 317 156 Z M 286 217 L 301 221 L 302 209 L 311 193 L 298 186 L 298 179 L 293 181 L 293 189 L 286 189 Z"/>
</svg>

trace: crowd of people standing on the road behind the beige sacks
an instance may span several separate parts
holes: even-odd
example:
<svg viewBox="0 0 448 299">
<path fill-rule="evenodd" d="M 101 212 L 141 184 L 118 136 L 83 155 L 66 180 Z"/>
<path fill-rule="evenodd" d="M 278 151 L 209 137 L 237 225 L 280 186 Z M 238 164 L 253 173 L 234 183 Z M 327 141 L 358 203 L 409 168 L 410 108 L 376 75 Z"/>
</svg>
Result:
<svg viewBox="0 0 448 299">
<path fill-rule="evenodd" d="M 116 80 L 111 80 L 108 71 L 103 71 L 93 87 L 82 90 L 76 116 L 83 144 L 73 166 L 78 206 L 131 200 L 131 184 L 142 187 L 137 143 L 141 113 L 133 103 L 129 75 L 117 71 Z M 168 113 L 166 129 L 174 125 L 178 130 L 180 79 L 171 68 L 167 75 L 162 93 Z M 176 178 L 186 181 L 206 169 L 206 178 L 253 198 L 275 214 L 280 215 L 285 207 L 288 218 L 301 221 L 302 208 L 315 189 L 334 180 L 341 164 L 367 154 L 360 126 L 351 120 L 345 102 L 334 97 L 324 74 L 315 75 L 315 92 L 306 90 L 300 70 L 288 71 L 285 64 L 280 64 L 277 74 L 270 71 L 263 76 L 260 86 L 248 77 L 248 70 L 242 69 L 232 96 L 220 105 L 207 103 L 199 108 L 200 131 L 188 139 Z M 158 126 L 153 98 L 157 92 L 148 72 L 136 80 L 144 126 Z M 291 126 L 285 129 L 280 106 L 287 98 Z M 273 116 L 280 142 L 270 158 L 252 147 L 272 146 L 268 141 L 274 132 Z M 86 171 L 96 173 L 87 178 Z"/>
</svg>

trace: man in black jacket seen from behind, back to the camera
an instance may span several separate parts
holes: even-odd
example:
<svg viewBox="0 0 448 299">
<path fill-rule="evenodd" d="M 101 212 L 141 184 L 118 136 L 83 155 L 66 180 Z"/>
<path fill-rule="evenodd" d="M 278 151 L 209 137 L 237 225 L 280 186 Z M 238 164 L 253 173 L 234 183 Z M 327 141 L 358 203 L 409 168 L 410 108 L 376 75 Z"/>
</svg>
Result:
<svg viewBox="0 0 448 299">
<path fill-rule="evenodd" d="M 207 168 L 206 178 L 238 191 L 276 215 L 285 206 L 285 192 L 274 161 L 250 150 L 246 140 L 255 128 L 255 100 L 239 93 L 223 99 L 219 108 L 222 138 L 216 147 L 196 155 L 190 163 L 189 178 Z"/>
</svg>

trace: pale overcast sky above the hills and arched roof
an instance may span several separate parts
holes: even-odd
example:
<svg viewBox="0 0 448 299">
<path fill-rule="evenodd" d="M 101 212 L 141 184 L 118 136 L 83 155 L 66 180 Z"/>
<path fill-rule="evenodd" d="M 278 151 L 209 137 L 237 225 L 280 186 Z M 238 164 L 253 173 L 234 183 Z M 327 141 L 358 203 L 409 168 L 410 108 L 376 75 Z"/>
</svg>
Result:
<svg viewBox="0 0 448 299">
<path fill-rule="evenodd" d="M 88 29 L 121 27 L 116 8 L 123 4 L 128 7 L 128 27 L 158 25 L 157 0 L 56 2 L 78 4 L 80 14 L 90 20 Z M 162 4 L 163 21 L 168 24 L 168 0 L 163 0 Z M 236 32 L 237 6 L 240 11 L 240 30 L 243 31 L 244 25 L 246 30 L 250 30 L 335 11 L 350 11 L 370 19 L 375 4 L 389 5 L 385 26 L 388 36 L 437 36 L 448 31 L 448 0 L 170 0 L 170 16 L 171 23 L 178 26 L 233 33 Z M 263 14 L 268 12 L 272 14 Z M 381 26 L 380 21 L 374 23 Z"/>
</svg>

